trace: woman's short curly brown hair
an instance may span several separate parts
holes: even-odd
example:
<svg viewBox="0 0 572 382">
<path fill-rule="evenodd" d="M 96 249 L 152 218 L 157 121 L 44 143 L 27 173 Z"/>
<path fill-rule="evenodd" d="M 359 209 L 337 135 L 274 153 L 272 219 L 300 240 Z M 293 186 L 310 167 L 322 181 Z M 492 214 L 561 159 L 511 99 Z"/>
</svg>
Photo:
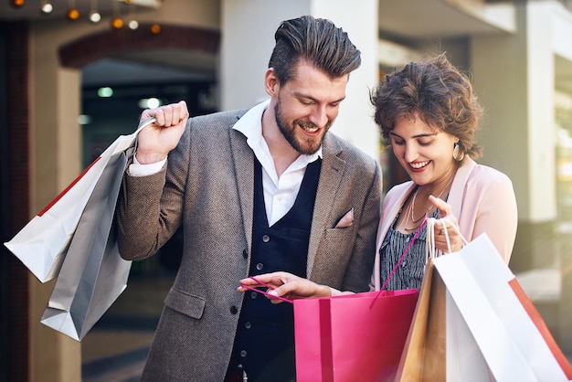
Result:
<svg viewBox="0 0 572 382">
<path fill-rule="evenodd" d="M 482 155 L 482 147 L 475 142 L 482 106 L 471 80 L 450 64 L 445 53 L 387 74 L 370 94 L 370 100 L 386 140 L 398 119 L 418 114 L 432 128 L 459 138 L 462 153 L 473 159 Z"/>
</svg>

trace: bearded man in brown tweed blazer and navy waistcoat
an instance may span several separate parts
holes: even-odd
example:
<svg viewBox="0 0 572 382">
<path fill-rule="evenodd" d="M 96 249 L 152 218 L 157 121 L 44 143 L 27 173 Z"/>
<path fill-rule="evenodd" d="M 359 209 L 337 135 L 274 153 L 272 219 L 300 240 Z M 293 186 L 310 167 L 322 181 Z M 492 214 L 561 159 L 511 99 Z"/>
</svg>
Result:
<svg viewBox="0 0 572 382">
<path fill-rule="evenodd" d="M 247 276 L 368 290 L 381 171 L 327 133 L 360 52 L 312 16 L 283 22 L 275 39 L 270 101 L 192 119 L 184 101 L 143 111 L 156 122 L 123 179 L 120 250 L 144 259 L 181 225 L 185 237 L 143 381 L 294 379 L 292 306 L 238 292 Z"/>
</svg>

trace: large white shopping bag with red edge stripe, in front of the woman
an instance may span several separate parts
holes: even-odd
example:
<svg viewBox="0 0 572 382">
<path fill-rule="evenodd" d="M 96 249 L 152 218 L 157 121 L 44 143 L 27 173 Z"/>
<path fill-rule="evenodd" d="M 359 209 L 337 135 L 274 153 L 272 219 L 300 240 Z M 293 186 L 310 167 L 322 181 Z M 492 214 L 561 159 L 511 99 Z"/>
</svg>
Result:
<svg viewBox="0 0 572 382">
<path fill-rule="evenodd" d="M 447 287 L 447 380 L 572 378 L 572 366 L 486 234 L 433 262 Z"/>
</svg>

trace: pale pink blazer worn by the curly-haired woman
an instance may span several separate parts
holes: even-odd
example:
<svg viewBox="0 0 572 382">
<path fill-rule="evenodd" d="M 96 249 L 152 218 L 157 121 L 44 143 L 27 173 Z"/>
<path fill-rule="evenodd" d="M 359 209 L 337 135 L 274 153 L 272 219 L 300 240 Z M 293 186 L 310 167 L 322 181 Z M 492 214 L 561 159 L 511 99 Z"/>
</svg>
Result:
<svg viewBox="0 0 572 382">
<path fill-rule="evenodd" d="M 376 254 L 379 253 L 389 226 L 414 188 L 415 184 L 408 181 L 392 187 L 387 192 L 377 230 Z M 465 157 L 453 179 L 447 202 L 459 221 L 462 236 L 471 241 L 486 232 L 508 264 L 518 223 L 516 197 L 510 178 Z M 379 267 L 378 256 L 376 267 Z M 375 277 L 372 277 L 372 290 L 375 281 Z"/>
</svg>

